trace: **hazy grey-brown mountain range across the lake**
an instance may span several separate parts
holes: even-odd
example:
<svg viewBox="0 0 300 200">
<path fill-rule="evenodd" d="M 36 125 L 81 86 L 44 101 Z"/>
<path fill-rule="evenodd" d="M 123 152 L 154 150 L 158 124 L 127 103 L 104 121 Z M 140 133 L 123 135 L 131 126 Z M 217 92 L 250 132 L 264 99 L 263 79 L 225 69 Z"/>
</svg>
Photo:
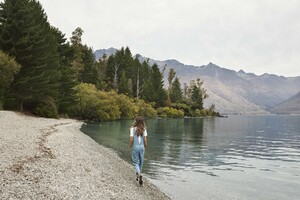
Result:
<svg viewBox="0 0 300 200">
<path fill-rule="evenodd" d="M 95 52 L 98 60 L 103 54 L 111 55 L 117 49 L 100 49 Z M 141 55 L 141 62 L 156 63 L 164 70 L 167 84 L 169 70 L 173 68 L 180 82 L 187 83 L 200 78 L 209 95 L 204 106 L 215 104 L 216 110 L 223 114 L 300 114 L 300 76 L 284 77 L 274 74 L 256 75 L 243 70 L 234 71 L 214 63 L 193 66 L 185 65 L 175 59 L 154 60 Z M 167 85 L 165 86 L 167 87 Z"/>
</svg>

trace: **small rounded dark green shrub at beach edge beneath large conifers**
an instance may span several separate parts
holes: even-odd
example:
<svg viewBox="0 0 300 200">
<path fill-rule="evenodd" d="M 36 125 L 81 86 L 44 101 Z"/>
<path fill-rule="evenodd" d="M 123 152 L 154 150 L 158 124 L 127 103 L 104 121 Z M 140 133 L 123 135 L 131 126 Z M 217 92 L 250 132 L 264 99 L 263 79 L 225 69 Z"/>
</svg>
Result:
<svg viewBox="0 0 300 200">
<path fill-rule="evenodd" d="M 34 109 L 34 114 L 40 117 L 58 118 L 58 110 L 53 98 L 42 100 Z"/>
</svg>

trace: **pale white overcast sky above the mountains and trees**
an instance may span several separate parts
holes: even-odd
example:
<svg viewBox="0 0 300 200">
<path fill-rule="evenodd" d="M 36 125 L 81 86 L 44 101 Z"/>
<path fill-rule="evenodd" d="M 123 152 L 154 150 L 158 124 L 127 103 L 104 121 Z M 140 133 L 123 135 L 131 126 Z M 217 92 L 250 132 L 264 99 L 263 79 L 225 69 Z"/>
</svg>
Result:
<svg viewBox="0 0 300 200">
<path fill-rule="evenodd" d="M 184 64 L 300 76 L 300 0 L 40 0 L 69 38 Z"/>
</svg>

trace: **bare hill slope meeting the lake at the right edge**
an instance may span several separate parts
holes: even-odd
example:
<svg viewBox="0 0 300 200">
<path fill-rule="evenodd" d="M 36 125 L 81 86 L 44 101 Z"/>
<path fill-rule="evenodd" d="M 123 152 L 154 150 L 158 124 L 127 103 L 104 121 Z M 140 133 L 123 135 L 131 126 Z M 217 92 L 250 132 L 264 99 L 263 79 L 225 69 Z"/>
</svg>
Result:
<svg viewBox="0 0 300 200">
<path fill-rule="evenodd" d="M 300 92 L 271 109 L 276 114 L 300 114 Z"/>
</svg>

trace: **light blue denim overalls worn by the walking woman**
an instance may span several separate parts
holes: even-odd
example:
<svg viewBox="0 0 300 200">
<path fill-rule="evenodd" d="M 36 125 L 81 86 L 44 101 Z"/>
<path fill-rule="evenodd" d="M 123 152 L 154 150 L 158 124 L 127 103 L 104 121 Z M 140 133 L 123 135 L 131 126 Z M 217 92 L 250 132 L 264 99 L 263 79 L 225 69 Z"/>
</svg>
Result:
<svg viewBox="0 0 300 200">
<path fill-rule="evenodd" d="M 146 130 L 144 131 L 143 136 L 140 136 L 141 140 L 139 142 L 138 136 L 135 132 L 136 128 L 133 128 L 133 144 L 132 144 L 132 162 L 134 165 L 134 169 L 136 174 L 142 174 L 142 168 L 144 163 L 144 135 L 147 134 Z"/>
</svg>

